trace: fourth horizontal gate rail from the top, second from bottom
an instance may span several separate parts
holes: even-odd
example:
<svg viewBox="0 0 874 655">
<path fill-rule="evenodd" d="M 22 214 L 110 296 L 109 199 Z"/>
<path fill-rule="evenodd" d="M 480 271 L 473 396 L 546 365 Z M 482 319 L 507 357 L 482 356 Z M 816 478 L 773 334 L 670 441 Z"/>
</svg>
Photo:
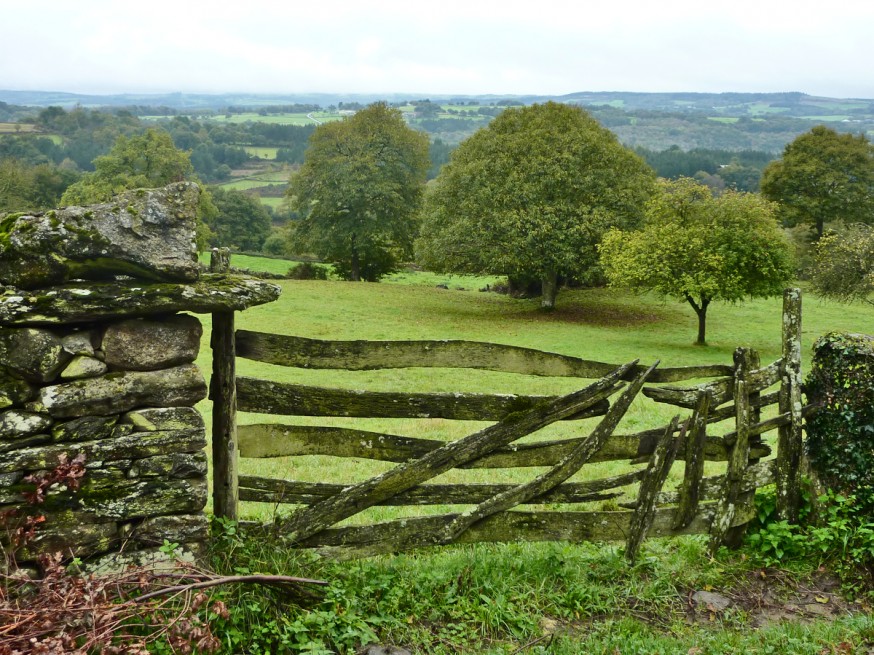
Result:
<svg viewBox="0 0 874 655">
<path fill-rule="evenodd" d="M 621 492 L 604 492 L 633 484 L 642 477 L 643 471 L 640 470 L 604 480 L 562 484 L 521 504 L 590 503 L 618 498 L 622 495 Z M 312 505 L 331 496 L 336 496 L 347 486 L 327 482 L 300 482 L 241 475 L 240 500 Z M 423 484 L 387 498 L 378 506 L 471 505 L 481 503 L 497 494 L 505 493 L 515 486 L 512 484 Z"/>
</svg>

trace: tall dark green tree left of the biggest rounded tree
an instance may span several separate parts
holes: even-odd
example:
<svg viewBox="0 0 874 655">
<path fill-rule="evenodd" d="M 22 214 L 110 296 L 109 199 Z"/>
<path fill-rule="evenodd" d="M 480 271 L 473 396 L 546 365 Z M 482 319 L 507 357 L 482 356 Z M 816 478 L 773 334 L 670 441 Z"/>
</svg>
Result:
<svg viewBox="0 0 874 655">
<path fill-rule="evenodd" d="M 385 103 L 320 125 L 288 190 L 301 214 L 292 248 L 346 279 L 378 280 L 412 256 L 429 166 L 428 137 Z"/>
</svg>

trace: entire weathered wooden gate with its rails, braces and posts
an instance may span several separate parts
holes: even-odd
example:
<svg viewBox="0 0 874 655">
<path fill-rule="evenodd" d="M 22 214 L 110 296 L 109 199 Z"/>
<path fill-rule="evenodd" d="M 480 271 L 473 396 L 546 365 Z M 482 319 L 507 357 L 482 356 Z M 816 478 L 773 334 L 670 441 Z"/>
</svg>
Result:
<svg viewBox="0 0 874 655">
<path fill-rule="evenodd" d="M 661 368 L 586 361 L 538 350 L 470 341 L 320 341 L 238 330 L 226 317 L 214 334 L 216 364 L 213 452 L 216 513 L 236 518 L 239 501 L 298 506 L 281 521 L 289 543 L 338 556 L 367 556 L 447 543 L 516 540 L 624 540 L 634 559 L 647 536 L 704 533 L 712 546 L 736 540 L 753 517 L 755 489 L 777 483 L 779 511 L 793 518 L 799 502 L 798 464 L 801 297 L 784 294 L 783 355 L 765 366 L 739 348 L 732 365 Z M 218 318 L 218 317 L 217 317 Z M 588 382 L 565 396 L 376 392 L 326 389 L 234 375 L 234 359 L 316 369 L 470 368 Z M 700 380 L 708 380 L 700 382 Z M 233 380 L 234 384 L 229 384 Z M 685 387 L 653 383 L 699 381 Z M 766 393 L 779 385 L 776 392 Z M 680 412 L 669 424 L 632 434 L 616 432 L 639 393 Z M 762 420 L 763 408 L 779 405 Z M 289 416 L 434 418 L 493 422 L 451 442 L 356 428 L 255 424 L 236 426 L 236 411 Z M 555 421 L 600 417 L 579 438 L 518 443 Z M 708 434 L 732 421 L 722 436 Z M 762 435 L 779 430 L 775 458 Z M 724 429 L 722 431 L 725 431 Z M 394 462 L 358 483 L 303 482 L 239 475 L 234 458 L 329 455 Z M 215 456 L 215 455 L 214 455 Z M 625 460 L 645 464 L 621 475 L 569 482 L 586 464 Z M 663 487 L 683 462 L 676 490 Z M 704 477 L 704 462 L 725 473 Z M 526 482 L 436 484 L 451 469 L 545 467 Z M 619 511 L 544 510 L 544 506 L 620 498 L 639 483 L 636 500 Z M 462 505 L 461 513 L 406 517 L 367 525 L 337 524 L 375 506 Z M 520 507 L 528 507 L 523 511 Z M 534 511 L 532 511 L 534 510 Z"/>
</svg>

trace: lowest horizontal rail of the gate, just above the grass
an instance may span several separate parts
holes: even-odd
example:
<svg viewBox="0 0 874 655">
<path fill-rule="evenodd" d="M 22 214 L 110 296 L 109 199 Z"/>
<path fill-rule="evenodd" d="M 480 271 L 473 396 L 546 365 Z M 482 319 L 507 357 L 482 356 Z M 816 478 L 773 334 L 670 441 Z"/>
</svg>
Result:
<svg viewBox="0 0 874 655">
<path fill-rule="evenodd" d="M 629 511 L 619 512 L 527 512 L 494 514 L 471 526 L 456 543 L 518 541 L 624 541 L 631 524 Z M 703 505 L 695 519 L 682 530 L 674 530 L 674 509 L 658 509 L 650 527 L 651 537 L 680 534 L 706 534 L 712 521 L 713 506 Z M 735 521 L 746 523 L 752 513 L 738 513 Z M 300 548 L 317 548 L 324 555 L 337 558 L 369 557 L 398 553 L 434 545 L 433 535 L 458 515 L 446 514 L 404 518 L 373 525 L 348 526 L 324 530 L 298 542 Z M 283 525 L 268 529 L 283 531 Z"/>
</svg>

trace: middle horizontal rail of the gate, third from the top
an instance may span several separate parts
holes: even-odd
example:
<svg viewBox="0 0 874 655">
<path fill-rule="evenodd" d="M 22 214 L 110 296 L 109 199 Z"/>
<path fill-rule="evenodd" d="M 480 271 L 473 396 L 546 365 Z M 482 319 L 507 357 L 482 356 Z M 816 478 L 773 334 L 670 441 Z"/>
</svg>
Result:
<svg viewBox="0 0 874 655">
<path fill-rule="evenodd" d="M 779 417 L 778 417 L 779 418 Z M 788 420 L 788 419 L 786 419 Z M 773 421 L 773 419 L 771 420 Z M 665 427 L 635 434 L 611 435 L 590 462 L 616 460 L 645 461 L 652 455 L 658 436 Z M 237 427 L 241 457 L 294 457 L 330 455 L 359 457 L 383 462 L 406 462 L 445 445 L 437 439 L 420 439 L 382 432 L 311 425 L 277 423 L 240 425 Z M 580 438 L 513 443 L 459 468 L 518 468 L 554 466 L 579 443 Z M 706 461 L 728 460 L 728 447 L 721 437 L 707 437 L 704 442 Z M 753 447 L 750 456 L 767 457 L 771 449 L 765 445 Z M 685 446 L 678 443 L 678 458 L 685 457 Z"/>
</svg>

